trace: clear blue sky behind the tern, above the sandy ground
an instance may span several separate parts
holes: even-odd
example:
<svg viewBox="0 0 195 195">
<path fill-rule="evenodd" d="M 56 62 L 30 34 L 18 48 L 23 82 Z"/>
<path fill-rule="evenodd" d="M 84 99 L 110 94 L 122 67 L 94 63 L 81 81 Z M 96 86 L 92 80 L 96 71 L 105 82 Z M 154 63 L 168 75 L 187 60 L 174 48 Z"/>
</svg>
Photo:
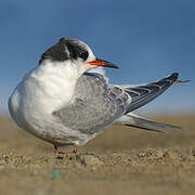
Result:
<svg viewBox="0 0 195 195">
<path fill-rule="evenodd" d="M 24 74 L 61 37 L 87 42 L 114 83 L 142 83 L 179 72 L 178 86 L 143 108 L 195 110 L 195 1 L 0 0 L 0 110 Z"/>
</svg>

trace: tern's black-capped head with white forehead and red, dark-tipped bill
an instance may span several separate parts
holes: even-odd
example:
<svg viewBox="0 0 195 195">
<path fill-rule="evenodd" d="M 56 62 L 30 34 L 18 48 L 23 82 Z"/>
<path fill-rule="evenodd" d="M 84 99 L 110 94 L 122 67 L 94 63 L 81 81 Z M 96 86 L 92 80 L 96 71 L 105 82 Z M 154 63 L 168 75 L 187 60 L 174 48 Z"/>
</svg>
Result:
<svg viewBox="0 0 195 195">
<path fill-rule="evenodd" d="M 77 68 L 79 75 L 95 66 L 118 68 L 113 63 L 96 58 L 84 42 L 70 38 L 61 38 L 56 44 L 49 48 L 42 54 L 39 65 L 46 64 L 47 61 L 70 64 Z"/>
</svg>

